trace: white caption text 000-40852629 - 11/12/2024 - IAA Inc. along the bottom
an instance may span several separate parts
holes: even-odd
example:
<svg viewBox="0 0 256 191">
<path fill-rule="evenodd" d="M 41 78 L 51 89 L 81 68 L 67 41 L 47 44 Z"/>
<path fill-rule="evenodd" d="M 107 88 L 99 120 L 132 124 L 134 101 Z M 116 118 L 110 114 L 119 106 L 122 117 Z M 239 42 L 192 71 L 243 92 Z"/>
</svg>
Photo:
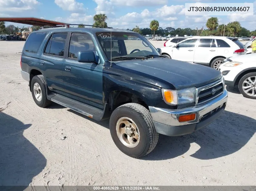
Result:
<svg viewBox="0 0 256 191">
<path fill-rule="evenodd" d="M 157 186 L 94 186 L 93 190 L 160 190 Z"/>
</svg>

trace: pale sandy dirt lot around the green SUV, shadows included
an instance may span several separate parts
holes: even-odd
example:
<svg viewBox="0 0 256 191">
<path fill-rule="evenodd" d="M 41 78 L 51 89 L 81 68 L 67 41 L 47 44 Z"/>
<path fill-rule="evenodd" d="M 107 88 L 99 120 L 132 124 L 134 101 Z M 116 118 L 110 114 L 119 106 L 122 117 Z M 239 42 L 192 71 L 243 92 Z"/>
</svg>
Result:
<svg viewBox="0 0 256 191">
<path fill-rule="evenodd" d="M 256 185 L 256 100 L 227 88 L 221 118 L 191 135 L 160 135 L 134 159 L 115 146 L 107 120 L 37 107 L 20 74 L 23 44 L 0 42 L 0 185 Z"/>
</svg>

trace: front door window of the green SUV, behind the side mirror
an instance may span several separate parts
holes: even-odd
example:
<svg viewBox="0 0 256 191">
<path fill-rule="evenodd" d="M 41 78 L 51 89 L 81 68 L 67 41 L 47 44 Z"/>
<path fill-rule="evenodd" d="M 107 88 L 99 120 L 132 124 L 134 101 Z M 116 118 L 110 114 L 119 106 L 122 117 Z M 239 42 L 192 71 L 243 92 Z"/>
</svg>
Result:
<svg viewBox="0 0 256 191">
<path fill-rule="evenodd" d="M 77 59 L 78 52 L 83 50 L 92 50 L 96 52 L 91 37 L 85 33 L 72 33 L 68 57 Z"/>
</svg>

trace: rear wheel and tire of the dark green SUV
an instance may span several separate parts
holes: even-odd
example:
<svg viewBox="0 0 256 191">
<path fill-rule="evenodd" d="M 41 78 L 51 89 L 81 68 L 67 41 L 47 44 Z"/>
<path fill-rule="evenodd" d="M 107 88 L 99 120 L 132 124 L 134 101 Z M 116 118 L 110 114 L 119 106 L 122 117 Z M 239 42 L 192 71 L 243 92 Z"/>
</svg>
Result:
<svg viewBox="0 0 256 191">
<path fill-rule="evenodd" d="M 35 88 L 34 88 L 35 86 Z M 39 86 L 39 90 L 35 90 L 36 88 L 38 88 Z M 49 105 L 51 105 L 52 101 L 48 100 L 46 97 L 46 81 L 43 75 L 36 75 L 32 78 L 31 81 L 31 92 L 32 92 L 32 97 L 35 101 L 35 103 L 39 106 L 39 107 L 48 107 Z M 40 93 L 39 93 L 40 92 Z M 41 95 L 41 99 L 40 96 L 39 98 L 36 98 L 35 94 L 40 94 Z"/>
</svg>

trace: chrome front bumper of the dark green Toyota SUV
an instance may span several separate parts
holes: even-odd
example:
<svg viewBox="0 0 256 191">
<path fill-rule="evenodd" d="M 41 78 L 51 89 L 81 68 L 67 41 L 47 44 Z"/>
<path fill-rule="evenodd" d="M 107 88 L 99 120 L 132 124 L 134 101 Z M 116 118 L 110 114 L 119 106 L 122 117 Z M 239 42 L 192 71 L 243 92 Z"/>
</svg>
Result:
<svg viewBox="0 0 256 191">
<path fill-rule="evenodd" d="M 186 135 L 208 126 L 223 113 L 228 101 L 228 91 L 201 105 L 178 110 L 149 107 L 155 129 L 158 133 L 169 136 Z M 179 122 L 179 116 L 196 114 L 195 120 Z"/>
</svg>

